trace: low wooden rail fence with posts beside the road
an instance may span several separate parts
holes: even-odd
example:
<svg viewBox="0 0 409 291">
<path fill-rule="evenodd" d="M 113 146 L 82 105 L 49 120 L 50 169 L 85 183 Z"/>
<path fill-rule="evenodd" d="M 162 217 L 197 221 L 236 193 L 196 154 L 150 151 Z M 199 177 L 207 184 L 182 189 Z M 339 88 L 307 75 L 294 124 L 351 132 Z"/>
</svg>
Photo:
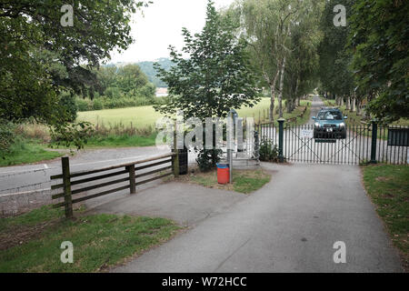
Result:
<svg viewBox="0 0 409 291">
<path fill-rule="evenodd" d="M 55 194 L 52 196 L 53 199 L 59 199 L 59 198 L 64 197 L 64 202 L 55 204 L 54 207 L 56 208 L 56 207 L 65 206 L 65 217 L 71 218 L 73 216 L 73 204 L 75 203 L 82 202 L 82 201 L 92 199 L 92 198 L 96 198 L 99 196 L 105 196 L 105 195 L 112 194 L 112 193 L 122 191 L 125 189 L 130 189 L 130 193 L 135 194 L 136 186 L 140 186 L 145 183 L 164 178 L 165 176 L 170 176 L 170 175 L 179 176 L 179 158 L 178 157 L 179 157 L 178 151 L 175 151 L 175 153 L 166 154 L 162 156 L 155 156 L 155 157 L 147 158 L 144 160 L 136 161 L 133 163 L 126 163 L 122 165 L 108 166 L 108 167 L 90 170 L 90 171 L 71 173 L 69 158 L 67 156 L 64 156 L 61 159 L 62 174 L 50 177 L 51 180 L 62 179 L 63 181 L 63 183 L 61 184 L 51 186 L 52 190 L 61 189 L 61 188 L 63 189 L 62 193 Z M 152 162 L 155 162 L 155 163 L 152 163 Z M 172 166 L 163 166 L 163 167 L 154 169 L 152 171 L 143 172 L 140 174 L 136 173 L 137 171 L 140 171 L 143 169 L 148 169 L 154 166 L 161 166 L 161 165 L 168 164 L 168 163 L 172 163 Z M 146 164 L 146 165 L 143 165 L 143 164 Z M 135 181 L 137 178 L 150 176 L 156 173 L 164 172 L 169 169 L 171 169 L 171 171 L 163 175 L 154 176 L 152 178 L 148 178 L 148 179 L 138 181 L 138 182 Z M 114 170 L 117 170 L 117 171 L 113 173 L 104 174 L 104 172 L 114 171 Z M 98 175 L 98 176 L 90 176 L 90 175 L 95 175 L 95 174 L 100 174 L 100 173 L 101 175 Z M 98 183 L 97 185 L 94 185 L 94 186 L 85 186 L 80 189 L 72 190 L 72 186 L 82 185 L 82 184 L 89 183 L 89 182 L 95 182 L 98 180 L 103 180 L 103 179 L 111 178 L 115 176 L 121 176 L 121 175 L 124 176 L 125 174 L 128 174 L 128 176 L 117 178 L 112 181 L 107 181 L 104 183 Z M 84 176 L 90 176 L 90 177 L 84 177 Z M 76 179 L 73 181 L 72 180 L 73 178 L 80 178 L 80 179 Z M 83 197 L 73 199 L 73 196 L 79 195 L 79 194 L 85 194 L 87 191 L 95 190 L 95 189 L 106 187 L 106 186 L 114 186 L 115 184 L 125 183 L 125 182 L 129 182 L 129 184 L 126 186 L 120 186 L 114 189 L 109 189 L 109 190 L 106 190 L 106 191 L 103 191 L 103 192 L 100 192 L 94 195 L 83 196 Z"/>
</svg>

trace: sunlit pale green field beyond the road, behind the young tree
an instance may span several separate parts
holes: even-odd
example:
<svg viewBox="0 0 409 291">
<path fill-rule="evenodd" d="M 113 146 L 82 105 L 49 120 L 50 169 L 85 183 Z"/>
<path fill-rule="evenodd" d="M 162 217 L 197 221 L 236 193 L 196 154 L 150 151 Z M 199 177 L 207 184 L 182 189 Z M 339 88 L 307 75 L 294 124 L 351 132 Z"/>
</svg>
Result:
<svg viewBox="0 0 409 291">
<path fill-rule="evenodd" d="M 278 104 L 278 103 L 277 103 Z M 259 112 L 263 115 L 263 110 L 270 107 L 270 98 L 263 98 L 253 108 L 243 107 L 238 110 L 239 116 L 252 117 L 258 119 Z M 88 121 L 92 124 L 104 124 L 106 126 L 123 123 L 143 128 L 149 125 L 155 126 L 157 119 L 163 115 L 157 113 L 153 106 L 129 107 L 120 109 L 106 109 L 97 111 L 86 111 L 78 113 L 78 120 Z"/>
</svg>

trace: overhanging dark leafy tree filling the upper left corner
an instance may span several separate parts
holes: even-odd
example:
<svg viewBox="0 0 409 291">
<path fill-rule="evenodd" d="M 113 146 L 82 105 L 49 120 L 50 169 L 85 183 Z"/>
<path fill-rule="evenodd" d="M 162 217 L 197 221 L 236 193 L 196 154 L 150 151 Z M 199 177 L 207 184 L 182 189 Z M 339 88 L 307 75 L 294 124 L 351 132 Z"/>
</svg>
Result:
<svg viewBox="0 0 409 291">
<path fill-rule="evenodd" d="M 65 0 L 0 3 L 0 118 L 34 116 L 59 124 L 61 90 L 95 85 L 90 68 L 133 41 L 134 0 L 74 0 L 72 25 L 62 25 Z M 64 10 L 63 10 L 64 11 Z"/>
</svg>

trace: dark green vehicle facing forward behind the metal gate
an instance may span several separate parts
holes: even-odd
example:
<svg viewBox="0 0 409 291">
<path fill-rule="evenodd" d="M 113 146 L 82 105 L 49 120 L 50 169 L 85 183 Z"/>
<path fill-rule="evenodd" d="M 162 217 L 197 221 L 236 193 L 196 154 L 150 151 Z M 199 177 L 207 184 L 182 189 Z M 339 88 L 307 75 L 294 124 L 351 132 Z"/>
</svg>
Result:
<svg viewBox="0 0 409 291">
<path fill-rule="evenodd" d="M 338 108 L 321 108 L 314 116 L 314 138 L 346 138 L 344 116 Z"/>
</svg>

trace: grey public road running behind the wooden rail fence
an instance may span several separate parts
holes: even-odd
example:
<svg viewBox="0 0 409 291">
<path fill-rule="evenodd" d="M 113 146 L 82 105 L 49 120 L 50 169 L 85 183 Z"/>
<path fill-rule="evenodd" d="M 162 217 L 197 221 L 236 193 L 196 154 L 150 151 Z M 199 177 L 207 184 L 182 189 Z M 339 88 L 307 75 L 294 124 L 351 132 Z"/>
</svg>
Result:
<svg viewBox="0 0 409 291">
<path fill-rule="evenodd" d="M 169 149 L 152 147 L 135 147 L 135 148 L 118 148 L 118 149 L 98 149 L 86 150 L 77 153 L 76 156 L 70 158 L 71 172 L 80 172 L 106 166 L 115 166 L 138 160 L 145 159 L 150 156 L 158 156 L 169 153 Z M 190 159 L 194 161 L 195 159 Z M 167 166 L 167 165 L 163 165 Z M 161 166 L 156 166 L 157 168 Z M 139 174 L 151 169 L 141 170 Z M 115 172 L 115 170 L 111 171 Z M 105 172 L 105 174 L 110 171 Z M 28 165 L 28 166 L 13 166 L 0 168 L 0 216 L 16 215 L 33 208 L 51 204 L 51 196 L 58 194 L 61 189 L 50 190 L 50 186 L 61 183 L 61 180 L 50 181 L 50 176 L 61 174 L 61 159 L 47 162 L 46 164 Z M 98 176 L 95 174 L 92 176 Z M 127 175 L 115 176 L 115 178 L 125 178 Z M 149 178 L 149 176 L 147 176 Z M 72 186 L 75 190 L 79 187 L 94 186 L 97 183 L 108 182 L 110 179 L 89 182 L 80 186 Z M 142 186 L 137 186 L 137 190 L 155 186 L 159 181 L 153 181 Z M 125 186 L 126 182 L 115 186 Z M 101 188 L 108 190 L 115 186 L 106 186 Z M 89 194 L 95 194 L 97 189 Z M 102 196 L 92 199 L 87 202 L 89 206 L 95 206 L 109 200 L 113 200 L 122 196 L 129 195 L 129 191 L 114 193 L 108 196 Z"/>
</svg>

